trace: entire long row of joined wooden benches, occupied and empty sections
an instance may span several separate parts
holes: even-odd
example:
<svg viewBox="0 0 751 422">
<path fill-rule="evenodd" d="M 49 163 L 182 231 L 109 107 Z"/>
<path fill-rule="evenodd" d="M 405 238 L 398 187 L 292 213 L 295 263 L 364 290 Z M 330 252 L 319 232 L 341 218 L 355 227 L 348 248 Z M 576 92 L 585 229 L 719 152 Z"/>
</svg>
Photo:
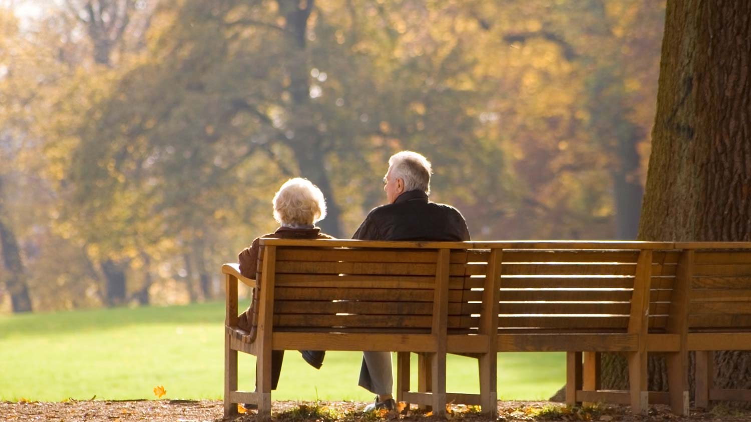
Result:
<svg viewBox="0 0 751 422">
<path fill-rule="evenodd" d="M 255 282 L 223 267 L 225 414 L 251 402 L 268 417 L 273 349 L 397 351 L 397 400 L 430 405 L 435 414 L 454 402 L 479 404 L 494 417 L 496 354 L 505 351 L 566 351 L 570 404 L 630 403 L 641 413 L 649 402 L 665 402 L 686 414 L 689 350 L 701 351 L 698 400 L 751 398 L 714 390 L 702 375 L 711 374 L 709 351 L 751 349 L 751 243 L 261 245 L 255 342 L 237 329 L 237 280 Z M 237 351 L 258 357 L 258 393 L 237 391 Z M 599 354 L 613 351 L 628 358 L 628 391 L 600 388 Z M 409 384 L 412 352 L 417 391 Z M 647 391 L 648 352 L 668 357 L 667 393 Z M 446 392 L 447 353 L 478 358 L 479 394 Z"/>
</svg>

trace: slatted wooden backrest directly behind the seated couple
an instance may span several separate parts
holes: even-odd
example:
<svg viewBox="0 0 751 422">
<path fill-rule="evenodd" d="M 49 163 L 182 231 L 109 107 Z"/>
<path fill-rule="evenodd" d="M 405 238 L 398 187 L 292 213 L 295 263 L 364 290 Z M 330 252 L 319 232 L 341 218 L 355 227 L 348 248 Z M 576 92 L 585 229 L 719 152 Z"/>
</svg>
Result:
<svg viewBox="0 0 751 422">
<path fill-rule="evenodd" d="M 440 306 L 436 288 L 441 283 L 443 289 L 448 285 L 448 327 L 460 326 L 464 263 L 449 263 L 449 257 L 466 253 L 452 255 L 446 246 L 424 243 L 400 243 L 400 248 L 339 244 L 351 242 L 273 246 L 273 275 L 264 276 L 259 266 L 259 277 L 262 289 L 273 280 L 275 331 L 431 333 L 438 322 L 433 315 Z"/>
</svg>

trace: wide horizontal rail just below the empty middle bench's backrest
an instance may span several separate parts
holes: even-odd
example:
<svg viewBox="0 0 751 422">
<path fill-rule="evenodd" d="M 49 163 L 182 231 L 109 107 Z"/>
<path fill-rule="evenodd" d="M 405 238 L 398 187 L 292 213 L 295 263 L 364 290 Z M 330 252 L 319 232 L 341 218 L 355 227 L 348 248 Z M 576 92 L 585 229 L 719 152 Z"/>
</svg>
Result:
<svg viewBox="0 0 751 422">
<path fill-rule="evenodd" d="M 633 334 L 499 334 L 498 351 L 632 351 Z"/>
</svg>

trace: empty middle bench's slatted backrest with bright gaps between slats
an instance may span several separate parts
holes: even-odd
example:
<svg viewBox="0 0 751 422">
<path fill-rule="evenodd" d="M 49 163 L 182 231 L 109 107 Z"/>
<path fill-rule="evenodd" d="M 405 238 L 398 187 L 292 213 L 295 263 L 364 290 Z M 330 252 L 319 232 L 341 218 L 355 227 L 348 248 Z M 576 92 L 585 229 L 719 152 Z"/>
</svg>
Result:
<svg viewBox="0 0 751 422">
<path fill-rule="evenodd" d="M 647 281 L 637 279 L 639 256 L 638 249 L 504 250 L 499 332 L 626 332 L 644 306 L 632 301 L 635 285 Z"/>
</svg>

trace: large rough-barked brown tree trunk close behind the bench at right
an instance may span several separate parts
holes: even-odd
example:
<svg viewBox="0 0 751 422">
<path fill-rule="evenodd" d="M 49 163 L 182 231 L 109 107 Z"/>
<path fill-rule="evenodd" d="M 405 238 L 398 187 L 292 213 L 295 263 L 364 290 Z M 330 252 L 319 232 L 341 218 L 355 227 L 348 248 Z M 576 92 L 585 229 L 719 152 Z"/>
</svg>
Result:
<svg viewBox="0 0 751 422">
<path fill-rule="evenodd" d="M 751 240 L 749 62 L 751 2 L 668 0 L 639 240 Z M 751 387 L 751 353 L 715 360 L 716 387 Z"/>
</svg>

